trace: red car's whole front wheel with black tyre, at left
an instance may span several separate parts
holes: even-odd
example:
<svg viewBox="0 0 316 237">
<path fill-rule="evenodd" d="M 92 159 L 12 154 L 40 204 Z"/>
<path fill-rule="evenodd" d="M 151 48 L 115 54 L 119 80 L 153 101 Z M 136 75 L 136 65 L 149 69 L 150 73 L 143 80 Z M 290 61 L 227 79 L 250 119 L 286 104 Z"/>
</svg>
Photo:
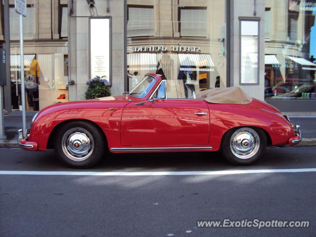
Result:
<svg viewBox="0 0 316 237">
<path fill-rule="evenodd" d="M 105 142 L 102 133 L 89 122 L 74 121 L 63 125 L 56 134 L 58 158 L 74 168 L 88 168 L 103 156 Z"/>
</svg>

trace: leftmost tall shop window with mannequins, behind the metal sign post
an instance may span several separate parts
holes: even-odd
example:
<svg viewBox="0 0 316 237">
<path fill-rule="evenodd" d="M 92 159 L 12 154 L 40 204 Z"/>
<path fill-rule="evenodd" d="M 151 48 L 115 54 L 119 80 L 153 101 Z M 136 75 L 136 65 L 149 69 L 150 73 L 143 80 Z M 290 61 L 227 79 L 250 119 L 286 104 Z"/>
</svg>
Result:
<svg viewBox="0 0 316 237">
<path fill-rule="evenodd" d="M 27 17 L 23 19 L 27 111 L 38 111 L 51 104 L 68 101 L 68 40 L 65 39 L 68 23 L 65 9 L 65 0 L 55 6 L 49 1 L 27 5 Z M 12 111 L 22 110 L 18 17 L 14 5 L 9 5 Z M 48 19 L 56 22 L 44 24 Z"/>
</svg>

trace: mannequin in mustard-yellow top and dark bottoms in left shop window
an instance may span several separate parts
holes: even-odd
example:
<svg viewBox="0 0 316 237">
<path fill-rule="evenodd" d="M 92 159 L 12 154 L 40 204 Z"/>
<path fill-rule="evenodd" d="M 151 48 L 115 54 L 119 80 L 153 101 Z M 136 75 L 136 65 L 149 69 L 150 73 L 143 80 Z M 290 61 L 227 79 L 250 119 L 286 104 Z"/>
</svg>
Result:
<svg viewBox="0 0 316 237">
<path fill-rule="evenodd" d="M 39 110 L 39 78 L 40 65 L 38 60 L 33 59 L 30 70 L 25 73 L 25 90 L 29 104 L 29 110 Z"/>
</svg>

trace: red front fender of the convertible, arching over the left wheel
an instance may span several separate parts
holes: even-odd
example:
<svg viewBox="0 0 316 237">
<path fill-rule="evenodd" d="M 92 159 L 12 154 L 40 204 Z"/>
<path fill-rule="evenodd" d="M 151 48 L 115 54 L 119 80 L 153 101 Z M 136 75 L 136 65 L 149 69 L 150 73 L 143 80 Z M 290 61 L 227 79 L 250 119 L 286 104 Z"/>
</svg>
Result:
<svg viewBox="0 0 316 237">
<path fill-rule="evenodd" d="M 119 144 L 120 120 L 126 102 L 70 102 L 43 109 L 33 122 L 29 141 L 37 142 L 38 150 L 45 151 L 53 129 L 63 122 L 86 120 L 100 127 L 109 146 Z M 109 109 L 113 110 L 109 110 Z M 115 110 L 114 110 L 115 109 Z"/>
</svg>

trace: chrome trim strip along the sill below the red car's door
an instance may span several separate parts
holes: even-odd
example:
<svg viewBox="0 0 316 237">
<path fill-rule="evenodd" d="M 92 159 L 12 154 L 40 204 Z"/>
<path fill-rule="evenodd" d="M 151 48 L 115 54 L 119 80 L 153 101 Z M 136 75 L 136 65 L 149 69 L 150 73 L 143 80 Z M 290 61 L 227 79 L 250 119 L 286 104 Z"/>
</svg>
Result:
<svg viewBox="0 0 316 237">
<path fill-rule="evenodd" d="M 126 148 L 111 148 L 111 152 L 135 152 L 135 151 L 211 151 L 212 147 L 126 147 Z"/>
</svg>

